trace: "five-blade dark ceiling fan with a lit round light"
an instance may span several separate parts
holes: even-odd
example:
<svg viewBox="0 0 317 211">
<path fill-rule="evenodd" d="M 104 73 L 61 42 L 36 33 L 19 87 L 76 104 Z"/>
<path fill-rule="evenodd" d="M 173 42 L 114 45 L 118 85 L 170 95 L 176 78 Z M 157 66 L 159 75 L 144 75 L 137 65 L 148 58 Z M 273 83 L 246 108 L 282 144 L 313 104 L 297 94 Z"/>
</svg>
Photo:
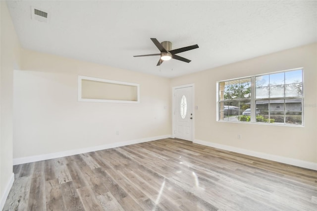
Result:
<svg viewBox="0 0 317 211">
<path fill-rule="evenodd" d="M 189 62 L 191 62 L 191 60 L 184 58 L 182 56 L 176 55 L 176 53 L 182 53 L 182 52 L 186 52 L 189 50 L 199 48 L 198 45 L 193 45 L 193 46 L 187 46 L 184 48 L 172 50 L 172 43 L 169 41 L 164 41 L 164 42 L 159 43 L 159 41 L 156 38 L 151 38 L 151 40 L 154 43 L 154 45 L 156 45 L 156 47 L 159 49 L 160 53 L 146 54 L 146 55 L 134 55 L 134 57 L 160 55 L 159 62 L 157 64 L 157 66 L 159 66 L 163 61 L 169 60 L 171 58 L 189 63 Z"/>
</svg>

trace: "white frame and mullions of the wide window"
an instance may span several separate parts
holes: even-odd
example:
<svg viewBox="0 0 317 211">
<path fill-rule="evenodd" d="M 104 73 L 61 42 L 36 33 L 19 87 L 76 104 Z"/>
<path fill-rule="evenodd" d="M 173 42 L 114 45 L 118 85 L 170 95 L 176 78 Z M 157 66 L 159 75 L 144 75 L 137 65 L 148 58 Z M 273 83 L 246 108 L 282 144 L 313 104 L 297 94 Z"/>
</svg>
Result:
<svg viewBox="0 0 317 211">
<path fill-rule="evenodd" d="M 300 97 L 280 97 L 280 98 L 265 98 L 265 99 L 256 99 L 256 85 L 255 85 L 255 79 L 257 76 L 261 76 L 261 75 L 269 75 L 269 74 L 274 74 L 274 73 L 282 73 L 282 72 L 288 72 L 288 71 L 295 71 L 295 70 L 302 70 L 302 83 L 303 83 L 303 95 L 300 96 Z M 219 90 L 219 84 L 220 82 L 227 82 L 227 81 L 232 81 L 232 80 L 241 80 L 241 79 L 245 79 L 245 78 L 251 78 L 251 99 L 250 99 L 250 103 L 251 103 L 251 115 L 250 115 L 250 122 L 247 122 L 247 121 L 229 121 L 229 120 L 220 120 L 220 108 L 219 108 L 219 103 L 221 102 L 231 102 L 231 101 L 220 101 L 220 90 Z M 229 80 L 223 80 L 223 81 L 218 81 L 216 83 L 216 121 L 217 122 L 234 122 L 234 123 L 247 123 L 247 124 L 269 124 L 269 125 L 283 125 L 283 126 L 296 126 L 296 127 L 299 127 L 299 126 L 304 126 L 304 68 L 301 67 L 301 68 L 294 68 L 294 69 L 289 69 L 289 70 L 283 70 L 283 71 L 278 71 L 278 72 L 270 72 L 270 73 L 265 73 L 265 74 L 259 74 L 259 75 L 253 75 L 253 76 L 248 76 L 248 77 L 241 77 L 241 78 L 235 78 L 235 79 L 229 79 Z M 284 123 L 270 123 L 270 122 L 257 122 L 256 120 L 256 101 L 262 101 L 262 100 L 289 100 L 289 99 L 301 99 L 301 106 L 302 106 L 302 109 L 301 109 L 301 112 L 302 112 L 302 124 L 287 124 L 285 123 L 285 120 L 284 120 Z M 283 106 L 284 109 L 285 109 L 285 105 Z M 284 118 L 286 116 L 286 113 L 284 113 Z"/>
</svg>

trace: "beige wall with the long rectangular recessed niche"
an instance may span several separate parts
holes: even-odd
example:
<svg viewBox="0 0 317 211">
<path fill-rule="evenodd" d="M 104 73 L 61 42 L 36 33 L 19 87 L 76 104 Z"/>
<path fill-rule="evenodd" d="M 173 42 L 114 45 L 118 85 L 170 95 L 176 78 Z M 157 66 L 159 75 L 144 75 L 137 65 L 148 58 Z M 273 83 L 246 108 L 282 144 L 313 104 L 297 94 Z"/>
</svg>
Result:
<svg viewBox="0 0 317 211">
<path fill-rule="evenodd" d="M 78 75 L 140 84 L 140 103 L 78 102 Z M 22 70 L 14 71 L 13 158 L 170 135 L 169 82 L 23 50 Z"/>
</svg>

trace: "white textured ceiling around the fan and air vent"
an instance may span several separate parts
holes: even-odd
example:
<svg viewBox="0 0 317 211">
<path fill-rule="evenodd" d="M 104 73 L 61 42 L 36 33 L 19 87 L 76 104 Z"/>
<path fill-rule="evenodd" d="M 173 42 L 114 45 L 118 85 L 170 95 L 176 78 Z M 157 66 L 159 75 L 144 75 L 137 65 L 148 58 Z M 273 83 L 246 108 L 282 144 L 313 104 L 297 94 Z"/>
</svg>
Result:
<svg viewBox="0 0 317 211">
<path fill-rule="evenodd" d="M 317 1 L 7 1 L 23 48 L 164 77 L 317 42 Z M 48 11 L 32 20 L 31 7 Z M 150 38 L 199 49 L 156 66 Z"/>
</svg>

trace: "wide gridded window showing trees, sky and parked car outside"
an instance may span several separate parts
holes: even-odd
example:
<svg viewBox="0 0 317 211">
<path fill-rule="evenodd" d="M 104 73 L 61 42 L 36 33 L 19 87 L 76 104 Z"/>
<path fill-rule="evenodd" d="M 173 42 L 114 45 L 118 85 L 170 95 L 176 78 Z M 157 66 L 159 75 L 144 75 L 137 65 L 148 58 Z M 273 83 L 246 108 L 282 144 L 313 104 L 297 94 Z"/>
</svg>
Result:
<svg viewBox="0 0 317 211">
<path fill-rule="evenodd" d="M 218 82 L 218 121 L 303 125 L 303 69 Z"/>
</svg>

